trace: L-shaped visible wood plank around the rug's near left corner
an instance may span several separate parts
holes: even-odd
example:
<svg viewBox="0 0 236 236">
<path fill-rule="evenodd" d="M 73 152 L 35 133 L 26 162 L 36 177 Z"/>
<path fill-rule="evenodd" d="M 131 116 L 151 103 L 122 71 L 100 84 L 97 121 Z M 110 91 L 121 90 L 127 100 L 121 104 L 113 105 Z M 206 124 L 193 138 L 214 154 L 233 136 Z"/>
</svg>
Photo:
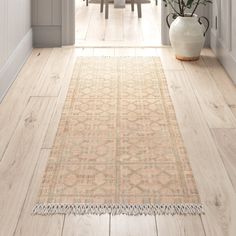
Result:
<svg viewBox="0 0 236 236">
<path fill-rule="evenodd" d="M 64 216 L 36 216 L 32 215 L 32 209 L 37 201 L 42 176 L 44 174 L 50 150 L 42 150 L 38 158 L 34 176 L 29 186 L 28 194 L 21 211 L 15 230 L 15 236 L 61 236 Z"/>
</svg>

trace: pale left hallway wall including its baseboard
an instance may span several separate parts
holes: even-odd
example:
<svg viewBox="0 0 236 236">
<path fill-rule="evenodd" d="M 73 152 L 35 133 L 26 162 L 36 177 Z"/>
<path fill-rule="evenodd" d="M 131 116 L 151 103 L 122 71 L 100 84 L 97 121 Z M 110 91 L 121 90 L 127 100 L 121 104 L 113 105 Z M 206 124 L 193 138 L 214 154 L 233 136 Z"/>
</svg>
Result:
<svg viewBox="0 0 236 236">
<path fill-rule="evenodd" d="M 31 0 L 0 0 L 0 101 L 31 48 Z"/>
</svg>

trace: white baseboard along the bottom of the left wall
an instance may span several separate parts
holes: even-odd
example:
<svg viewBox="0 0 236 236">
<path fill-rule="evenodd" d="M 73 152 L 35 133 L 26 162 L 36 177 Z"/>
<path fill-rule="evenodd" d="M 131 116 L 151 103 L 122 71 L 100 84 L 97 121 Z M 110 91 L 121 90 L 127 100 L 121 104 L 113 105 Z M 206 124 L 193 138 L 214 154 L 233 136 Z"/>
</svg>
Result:
<svg viewBox="0 0 236 236">
<path fill-rule="evenodd" d="M 30 29 L 5 64 L 0 68 L 0 102 L 30 55 L 32 51 L 32 38 L 32 30 Z"/>
</svg>

